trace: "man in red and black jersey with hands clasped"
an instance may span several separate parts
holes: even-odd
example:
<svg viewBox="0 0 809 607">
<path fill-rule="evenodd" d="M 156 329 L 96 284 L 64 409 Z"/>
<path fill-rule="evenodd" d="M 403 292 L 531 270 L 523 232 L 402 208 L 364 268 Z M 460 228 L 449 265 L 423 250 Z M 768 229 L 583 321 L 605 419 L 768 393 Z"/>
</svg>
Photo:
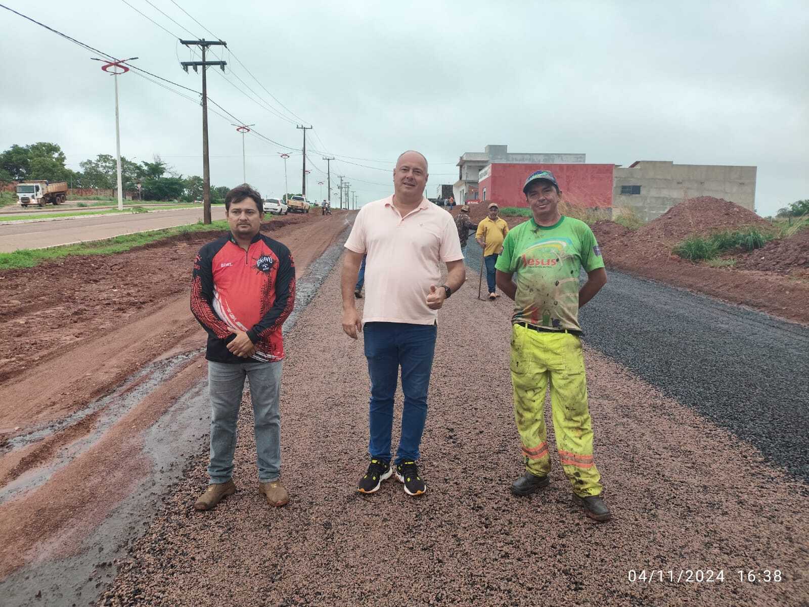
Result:
<svg viewBox="0 0 809 607">
<path fill-rule="evenodd" d="M 236 420 L 250 381 L 258 452 L 259 492 L 273 506 L 289 495 L 281 476 L 282 325 L 295 301 L 290 250 L 259 233 L 264 204 L 244 183 L 227 192 L 231 234 L 209 242 L 194 260 L 191 311 L 208 331 L 210 485 L 194 508 L 210 510 L 236 491 L 231 478 Z"/>
</svg>

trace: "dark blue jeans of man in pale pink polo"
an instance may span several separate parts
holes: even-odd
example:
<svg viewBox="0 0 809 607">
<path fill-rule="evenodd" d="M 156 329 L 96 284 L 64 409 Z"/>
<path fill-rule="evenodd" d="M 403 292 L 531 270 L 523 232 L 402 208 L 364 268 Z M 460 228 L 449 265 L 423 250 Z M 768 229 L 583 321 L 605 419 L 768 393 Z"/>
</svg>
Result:
<svg viewBox="0 0 809 607">
<path fill-rule="evenodd" d="M 404 411 L 394 463 L 415 462 L 427 419 L 427 388 L 438 327 L 407 322 L 366 322 L 363 332 L 371 377 L 368 453 L 386 462 L 391 460 L 393 396 L 401 366 Z"/>
</svg>

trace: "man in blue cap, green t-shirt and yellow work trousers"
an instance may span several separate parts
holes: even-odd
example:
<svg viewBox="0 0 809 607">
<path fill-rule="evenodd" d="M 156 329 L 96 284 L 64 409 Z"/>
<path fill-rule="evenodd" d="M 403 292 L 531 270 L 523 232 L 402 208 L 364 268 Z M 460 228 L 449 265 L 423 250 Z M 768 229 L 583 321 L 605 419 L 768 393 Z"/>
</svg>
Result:
<svg viewBox="0 0 809 607">
<path fill-rule="evenodd" d="M 511 491 L 529 495 L 549 484 L 544 401 L 550 385 L 557 451 L 573 485 L 573 500 L 595 521 L 609 521 L 593 461 L 578 324 L 578 309 L 607 283 L 604 260 L 590 227 L 559 213 L 561 191 L 553 173 L 528 175 L 523 193 L 533 217 L 506 235 L 495 265 L 498 287 L 515 302 L 510 367 L 526 474 L 511 485 Z M 588 280 L 579 289 L 581 268 Z"/>
</svg>

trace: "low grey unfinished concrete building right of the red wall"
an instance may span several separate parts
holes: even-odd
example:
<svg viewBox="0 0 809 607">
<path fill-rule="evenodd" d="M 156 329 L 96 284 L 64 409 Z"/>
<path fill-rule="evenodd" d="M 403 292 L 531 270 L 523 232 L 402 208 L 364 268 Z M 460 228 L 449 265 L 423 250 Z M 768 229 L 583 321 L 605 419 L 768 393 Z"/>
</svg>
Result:
<svg viewBox="0 0 809 607">
<path fill-rule="evenodd" d="M 660 217 L 688 198 L 714 196 L 756 210 L 756 167 L 675 164 L 670 160 L 638 160 L 615 167 L 614 212 L 632 209 L 643 221 Z"/>
</svg>

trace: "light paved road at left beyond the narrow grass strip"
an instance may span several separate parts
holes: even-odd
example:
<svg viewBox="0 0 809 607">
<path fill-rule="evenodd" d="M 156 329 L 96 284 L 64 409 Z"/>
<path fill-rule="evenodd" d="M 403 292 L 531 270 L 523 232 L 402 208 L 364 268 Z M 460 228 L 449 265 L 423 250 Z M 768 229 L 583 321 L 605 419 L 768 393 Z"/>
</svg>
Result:
<svg viewBox="0 0 809 607">
<path fill-rule="evenodd" d="M 214 220 L 225 218 L 223 206 L 214 206 L 211 213 Z M 56 247 L 70 242 L 183 226 L 201 219 L 202 209 L 180 209 L 161 213 L 102 215 L 0 226 L 0 253 L 10 253 L 18 249 Z"/>
</svg>

